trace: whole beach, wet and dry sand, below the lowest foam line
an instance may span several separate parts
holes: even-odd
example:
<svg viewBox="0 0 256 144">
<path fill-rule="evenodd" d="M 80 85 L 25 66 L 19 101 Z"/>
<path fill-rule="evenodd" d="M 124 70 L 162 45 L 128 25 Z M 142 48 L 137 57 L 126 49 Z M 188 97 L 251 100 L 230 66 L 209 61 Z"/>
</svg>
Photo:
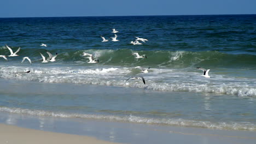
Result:
<svg viewBox="0 0 256 144">
<path fill-rule="evenodd" d="M 9 126 L 11 129 L 9 129 Z M 176 143 L 199 144 L 254 144 L 256 140 L 256 131 L 173 127 L 166 125 L 107 122 L 82 118 L 37 117 L 0 112 L 0 142 L 6 142 L 8 137 L 11 137 L 17 143 L 25 141 L 19 134 L 21 133 L 19 131 L 23 129 L 25 131 L 27 129 L 36 131 L 35 133 L 30 132 L 24 135 L 24 139 L 31 141 L 31 143 L 38 143 L 34 142 L 34 140 L 41 141 L 41 139 L 42 143 L 50 143 L 44 140 L 46 139 L 51 140 L 53 143 L 65 144 L 62 141 L 53 139 L 51 134 L 65 137 L 65 139 L 69 137 L 68 139 L 72 141 L 65 141 L 69 143 L 78 143 L 75 140 L 79 140 L 79 142 L 82 141 L 83 143 L 167 143 L 175 141 Z M 4 133 L 8 133 L 5 134 L 7 136 L 4 136 Z M 40 136 L 33 138 L 36 133 Z M 24 132 L 21 134 L 23 135 Z M 32 138 L 30 139 L 30 137 Z M 10 141 L 8 142 L 11 143 Z"/>
</svg>

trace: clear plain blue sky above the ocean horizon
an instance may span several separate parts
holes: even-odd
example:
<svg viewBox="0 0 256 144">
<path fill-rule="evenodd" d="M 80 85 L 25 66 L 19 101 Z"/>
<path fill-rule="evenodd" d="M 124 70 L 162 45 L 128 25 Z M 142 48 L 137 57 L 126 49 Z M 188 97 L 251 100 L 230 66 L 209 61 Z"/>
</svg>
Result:
<svg viewBox="0 0 256 144">
<path fill-rule="evenodd" d="M 6 0 L 0 17 L 256 14 L 255 0 Z"/>
</svg>

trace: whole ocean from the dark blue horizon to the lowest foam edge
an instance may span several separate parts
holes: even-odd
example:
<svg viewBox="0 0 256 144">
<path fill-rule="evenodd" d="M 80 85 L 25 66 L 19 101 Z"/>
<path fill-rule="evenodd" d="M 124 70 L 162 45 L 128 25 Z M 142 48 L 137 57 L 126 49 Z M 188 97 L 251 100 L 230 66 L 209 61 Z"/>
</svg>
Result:
<svg viewBox="0 0 256 144">
<path fill-rule="evenodd" d="M 119 41 L 102 43 L 113 28 Z M 148 41 L 130 44 L 135 37 Z M 2 113 L 256 130 L 256 15 L 1 18 L 8 56 L 5 44 L 21 50 L 0 58 Z M 42 63 L 45 50 L 55 62 Z M 126 81 L 133 76 L 146 85 Z"/>
</svg>

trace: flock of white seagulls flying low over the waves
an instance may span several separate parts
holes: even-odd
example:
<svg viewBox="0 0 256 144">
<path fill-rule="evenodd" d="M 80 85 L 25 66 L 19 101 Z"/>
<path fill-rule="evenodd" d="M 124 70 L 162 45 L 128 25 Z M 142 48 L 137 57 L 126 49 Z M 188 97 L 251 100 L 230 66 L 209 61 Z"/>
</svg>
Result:
<svg viewBox="0 0 256 144">
<path fill-rule="evenodd" d="M 119 32 L 119 31 L 117 31 L 116 29 L 112 29 L 112 33 L 114 33 L 114 36 L 115 36 L 115 37 L 111 37 L 112 41 L 119 41 L 119 40 L 117 39 L 118 35 L 116 34 L 116 33 L 118 33 L 118 32 Z M 107 42 L 107 41 L 108 41 L 108 39 L 105 39 L 102 35 L 101 35 L 101 38 L 102 38 L 102 42 Z M 139 38 L 139 37 L 135 37 L 135 38 L 136 38 L 136 40 L 135 40 L 135 41 L 131 41 L 130 44 L 133 44 L 133 45 L 142 45 L 142 43 L 139 43 L 139 41 L 142 41 L 143 43 L 146 43 L 146 41 L 148 41 L 147 39 L 144 39 L 144 38 Z M 18 48 L 18 50 L 16 50 L 15 52 L 13 52 L 13 50 L 12 50 L 8 45 L 5 45 L 5 46 L 6 46 L 7 49 L 10 51 L 10 55 L 9 55 L 8 57 L 19 56 L 19 55 L 17 55 L 17 53 L 20 51 L 20 47 Z M 46 44 L 41 44 L 40 46 L 47 47 Z M 39 52 L 40 55 L 42 56 L 42 59 L 43 59 L 42 63 L 48 63 L 48 62 L 54 62 L 54 61 L 56 61 L 55 58 L 57 57 L 58 53 L 55 53 L 55 56 L 53 56 L 49 51 L 47 51 L 47 50 L 45 50 L 45 51 L 46 51 L 46 53 L 49 55 L 49 57 L 48 57 L 47 59 L 44 57 L 44 55 L 43 55 L 42 53 Z M 135 58 L 147 58 L 146 55 L 139 55 L 138 52 L 132 53 L 131 55 L 135 55 Z M 89 59 L 89 62 L 88 62 L 88 63 L 98 63 L 98 62 L 99 62 L 99 60 L 98 60 L 97 58 L 94 58 L 94 56 L 92 56 L 92 54 L 90 54 L 90 53 L 83 52 L 83 53 L 82 53 L 82 56 L 87 56 L 87 57 L 85 57 L 85 58 L 88 58 L 88 59 Z M 6 61 L 8 61 L 7 56 L 0 55 L 0 58 L 1 58 L 1 57 L 4 58 Z M 21 63 L 23 63 L 26 59 L 27 59 L 28 62 L 30 62 L 30 64 L 32 63 L 32 62 L 31 62 L 31 59 L 28 58 L 28 57 L 23 57 Z M 141 67 L 135 67 L 135 68 L 141 69 L 141 73 L 149 73 L 148 70 L 150 69 L 150 67 L 147 68 L 147 69 L 143 69 L 143 68 L 141 68 Z M 206 69 L 203 69 L 203 68 L 200 68 L 200 67 L 198 67 L 197 69 L 200 69 L 200 70 L 203 71 L 203 75 L 202 75 L 202 76 L 205 76 L 205 77 L 207 77 L 207 78 L 210 77 L 210 76 L 208 75 L 210 69 L 207 69 L 207 70 L 206 70 Z M 10 73 L 10 72 L 9 72 L 9 73 Z M 30 73 L 30 71 L 26 71 L 25 73 Z M 18 74 L 15 74 L 15 76 L 18 76 Z M 126 81 L 128 81 L 128 80 L 141 80 L 141 81 L 144 83 L 144 85 L 146 85 L 146 82 L 145 82 L 145 79 L 144 79 L 143 76 L 129 77 L 129 79 L 127 79 Z M 125 81 L 125 82 L 126 82 L 126 81 Z"/>
</svg>

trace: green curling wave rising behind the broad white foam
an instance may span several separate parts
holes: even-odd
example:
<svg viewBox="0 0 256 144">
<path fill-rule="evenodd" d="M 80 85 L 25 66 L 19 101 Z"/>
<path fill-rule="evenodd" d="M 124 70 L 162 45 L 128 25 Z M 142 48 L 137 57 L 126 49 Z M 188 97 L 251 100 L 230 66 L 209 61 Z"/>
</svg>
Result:
<svg viewBox="0 0 256 144">
<path fill-rule="evenodd" d="M 254 68 L 256 55 L 246 54 L 229 54 L 218 51 L 136 51 L 130 49 L 119 50 L 49 50 L 52 53 L 59 53 L 56 62 L 72 63 L 72 62 L 87 62 L 88 59 L 82 56 L 83 52 L 91 53 L 94 57 L 100 60 L 100 65 L 120 65 L 120 66 L 135 66 L 135 65 L 147 65 L 147 66 L 164 66 L 176 68 L 198 67 L 207 65 L 207 67 L 228 67 L 228 68 Z M 48 55 L 44 49 L 22 49 L 20 51 L 21 56 L 28 56 L 33 62 L 40 62 L 39 52 L 43 53 L 45 57 Z M 147 59 L 136 59 L 131 54 L 138 52 L 139 55 L 147 55 Z M 1 55 L 9 55 L 7 49 L 0 49 Z M 11 58 L 10 58 L 11 59 Z M 14 61 L 20 61 L 20 57 L 13 58 Z M 87 64 L 87 63 L 85 63 Z"/>
</svg>

